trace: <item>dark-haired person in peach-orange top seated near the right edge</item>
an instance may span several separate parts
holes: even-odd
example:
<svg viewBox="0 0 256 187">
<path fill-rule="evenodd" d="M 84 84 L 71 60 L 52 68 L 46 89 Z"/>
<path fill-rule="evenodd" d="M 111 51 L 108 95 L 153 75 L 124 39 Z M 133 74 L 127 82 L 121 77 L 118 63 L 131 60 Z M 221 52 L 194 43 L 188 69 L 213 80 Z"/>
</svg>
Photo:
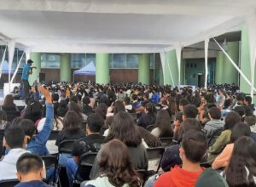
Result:
<svg viewBox="0 0 256 187">
<path fill-rule="evenodd" d="M 240 138 L 241 136 L 250 136 L 250 135 L 251 135 L 251 130 L 246 123 L 244 122 L 236 123 L 235 127 L 233 127 L 232 129 L 230 144 L 227 144 L 224 150 L 212 162 L 212 168 L 218 169 L 222 167 L 227 167 L 230 161 L 230 157 L 231 157 L 236 139 Z"/>
</svg>

